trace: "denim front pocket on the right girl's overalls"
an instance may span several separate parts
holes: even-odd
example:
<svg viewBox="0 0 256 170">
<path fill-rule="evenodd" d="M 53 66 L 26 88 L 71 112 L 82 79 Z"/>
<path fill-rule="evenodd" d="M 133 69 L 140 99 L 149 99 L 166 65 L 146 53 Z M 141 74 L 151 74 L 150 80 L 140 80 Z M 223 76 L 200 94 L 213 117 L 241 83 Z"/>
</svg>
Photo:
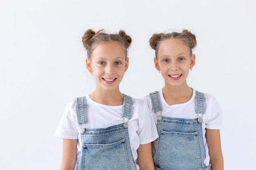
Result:
<svg viewBox="0 0 256 170">
<path fill-rule="evenodd" d="M 166 132 L 159 135 L 154 163 L 159 169 L 198 170 L 201 167 L 198 132 Z"/>
</svg>

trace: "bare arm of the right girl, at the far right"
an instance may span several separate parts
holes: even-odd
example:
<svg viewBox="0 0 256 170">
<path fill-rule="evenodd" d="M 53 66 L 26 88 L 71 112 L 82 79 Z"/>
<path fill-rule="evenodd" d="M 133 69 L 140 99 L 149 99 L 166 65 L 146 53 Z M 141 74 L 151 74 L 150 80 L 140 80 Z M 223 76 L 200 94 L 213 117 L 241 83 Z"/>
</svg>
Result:
<svg viewBox="0 0 256 170">
<path fill-rule="evenodd" d="M 224 170 L 220 130 L 206 129 L 206 140 L 209 148 L 211 170 Z"/>
</svg>

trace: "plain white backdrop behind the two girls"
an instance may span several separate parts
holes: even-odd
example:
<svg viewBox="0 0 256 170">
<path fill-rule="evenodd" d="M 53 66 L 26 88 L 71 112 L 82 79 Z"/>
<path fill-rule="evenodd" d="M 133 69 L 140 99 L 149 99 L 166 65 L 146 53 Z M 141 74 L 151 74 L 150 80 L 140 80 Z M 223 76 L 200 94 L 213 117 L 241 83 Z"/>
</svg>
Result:
<svg viewBox="0 0 256 170">
<path fill-rule="evenodd" d="M 164 86 L 151 35 L 194 33 L 187 82 L 222 106 L 225 170 L 254 169 L 255 7 L 253 0 L 0 0 L 0 170 L 60 169 L 56 126 L 66 104 L 95 87 L 81 42 L 87 29 L 132 37 L 120 90 L 135 98 Z"/>
</svg>

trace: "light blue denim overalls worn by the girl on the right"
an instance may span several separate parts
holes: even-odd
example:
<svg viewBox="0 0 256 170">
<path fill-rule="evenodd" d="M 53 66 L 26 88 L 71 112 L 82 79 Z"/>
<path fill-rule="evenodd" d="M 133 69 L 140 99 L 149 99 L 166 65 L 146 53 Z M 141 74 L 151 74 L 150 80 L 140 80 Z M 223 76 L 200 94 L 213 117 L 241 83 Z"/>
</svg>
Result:
<svg viewBox="0 0 256 170">
<path fill-rule="evenodd" d="M 153 157 L 155 170 L 209 170 L 211 164 L 204 164 L 206 156 L 202 134 L 205 98 L 204 93 L 195 91 L 195 94 L 198 118 L 180 119 L 163 117 L 158 92 L 150 93 L 159 135 L 157 152 Z"/>
</svg>

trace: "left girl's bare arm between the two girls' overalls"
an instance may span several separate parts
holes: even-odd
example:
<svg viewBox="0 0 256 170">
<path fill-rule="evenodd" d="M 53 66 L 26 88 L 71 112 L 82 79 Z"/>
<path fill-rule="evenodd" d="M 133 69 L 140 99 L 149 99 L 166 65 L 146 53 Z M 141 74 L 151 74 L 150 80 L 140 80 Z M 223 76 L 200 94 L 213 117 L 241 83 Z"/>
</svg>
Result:
<svg viewBox="0 0 256 170">
<path fill-rule="evenodd" d="M 137 153 L 140 170 L 155 170 L 152 157 L 151 143 L 139 145 Z"/>
</svg>

